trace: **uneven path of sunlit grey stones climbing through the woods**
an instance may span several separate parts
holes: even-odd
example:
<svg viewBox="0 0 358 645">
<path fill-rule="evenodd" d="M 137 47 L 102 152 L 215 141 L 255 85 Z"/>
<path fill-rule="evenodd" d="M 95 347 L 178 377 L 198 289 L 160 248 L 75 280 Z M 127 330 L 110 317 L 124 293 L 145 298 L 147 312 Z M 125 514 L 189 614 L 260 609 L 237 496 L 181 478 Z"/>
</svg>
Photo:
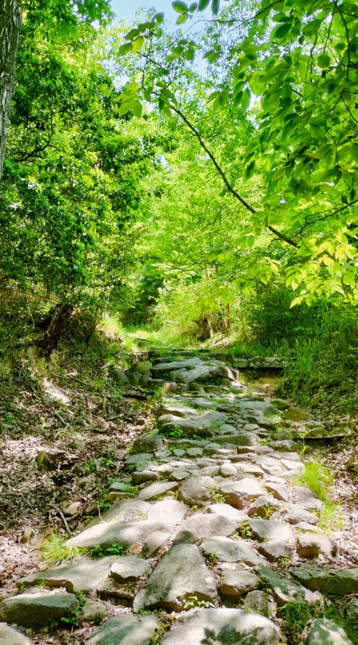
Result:
<svg viewBox="0 0 358 645">
<path fill-rule="evenodd" d="M 249 391 L 225 358 L 152 352 L 134 367 L 132 382 L 166 393 L 158 433 L 132 444 L 111 508 L 68 540 L 74 561 L 1 602 L 1 645 L 54 622 L 101 625 L 88 645 L 279 645 L 303 607 L 309 645 L 358 642 L 323 617 L 346 599 L 358 628 L 358 569 L 334 568 L 323 502 L 294 483 L 306 415 Z"/>
</svg>

